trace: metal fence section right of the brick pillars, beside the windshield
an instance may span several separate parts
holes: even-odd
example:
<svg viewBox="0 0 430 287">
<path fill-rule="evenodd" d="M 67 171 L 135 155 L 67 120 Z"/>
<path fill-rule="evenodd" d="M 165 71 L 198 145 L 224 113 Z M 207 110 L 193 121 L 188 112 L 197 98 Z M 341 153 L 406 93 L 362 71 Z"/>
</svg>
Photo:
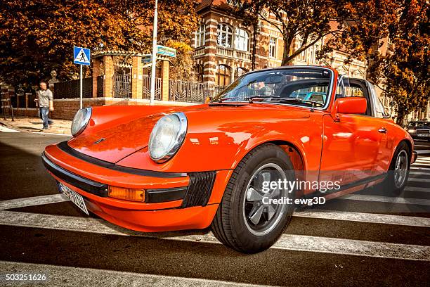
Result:
<svg viewBox="0 0 430 287">
<path fill-rule="evenodd" d="M 224 87 L 215 84 L 171 79 L 169 80 L 169 101 L 204 103 L 207 96 L 214 98 L 223 89 Z"/>
</svg>

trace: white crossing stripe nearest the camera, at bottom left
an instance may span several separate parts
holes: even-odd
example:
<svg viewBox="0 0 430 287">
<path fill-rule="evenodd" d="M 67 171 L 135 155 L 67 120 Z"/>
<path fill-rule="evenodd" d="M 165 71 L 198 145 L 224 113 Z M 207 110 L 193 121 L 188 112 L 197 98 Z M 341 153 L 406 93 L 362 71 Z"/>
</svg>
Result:
<svg viewBox="0 0 430 287">
<path fill-rule="evenodd" d="M 195 287 L 252 287 L 247 283 L 217 281 L 199 278 L 119 272 L 107 269 L 82 267 L 66 267 L 48 264 L 0 261 L 3 274 L 46 274 L 47 281 L 39 281 L 37 285 L 61 286 L 195 286 Z M 27 286 L 27 285 L 26 285 Z"/>
</svg>

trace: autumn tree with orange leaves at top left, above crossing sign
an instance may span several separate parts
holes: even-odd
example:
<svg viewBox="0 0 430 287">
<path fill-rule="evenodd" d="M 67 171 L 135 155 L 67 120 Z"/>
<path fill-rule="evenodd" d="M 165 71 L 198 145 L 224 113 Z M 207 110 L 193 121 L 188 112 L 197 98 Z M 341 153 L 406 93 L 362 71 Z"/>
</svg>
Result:
<svg viewBox="0 0 430 287">
<path fill-rule="evenodd" d="M 153 10 L 138 0 L 1 1 L 0 80 L 31 86 L 51 70 L 71 79 L 72 46 L 148 53 Z M 189 39 L 196 22 L 192 0 L 159 0 L 158 39 Z"/>
</svg>

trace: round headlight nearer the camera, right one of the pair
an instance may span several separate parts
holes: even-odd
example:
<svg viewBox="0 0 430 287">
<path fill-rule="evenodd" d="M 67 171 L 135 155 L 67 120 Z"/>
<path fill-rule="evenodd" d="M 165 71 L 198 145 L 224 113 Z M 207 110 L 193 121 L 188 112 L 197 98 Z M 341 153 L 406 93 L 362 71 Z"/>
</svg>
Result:
<svg viewBox="0 0 430 287">
<path fill-rule="evenodd" d="M 165 115 L 152 129 L 148 149 L 155 162 L 169 160 L 181 147 L 187 132 L 187 117 L 183 113 Z"/>
</svg>

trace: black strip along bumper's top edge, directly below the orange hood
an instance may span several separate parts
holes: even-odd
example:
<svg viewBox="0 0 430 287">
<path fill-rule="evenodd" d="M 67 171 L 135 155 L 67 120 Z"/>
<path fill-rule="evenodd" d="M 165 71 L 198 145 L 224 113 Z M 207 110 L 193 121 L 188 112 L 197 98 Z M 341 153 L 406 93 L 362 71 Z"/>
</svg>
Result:
<svg viewBox="0 0 430 287">
<path fill-rule="evenodd" d="M 145 177 L 160 177 L 160 178 L 176 178 L 176 177 L 186 177 L 187 174 L 184 172 L 155 172 L 153 170 L 140 170 L 138 168 L 133 167 L 123 167 L 121 165 L 115 165 L 115 163 L 107 162 L 105 160 L 99 160 L 98 158 L 93 158 L 92 156 L 81 153 L 74 148 L 71 148 L 67 141 L 62 141 L 60 144 L 57 144 L 58 148 L 65 153 L 74 156 L 75 158 L 79 158 L 80 160 L 84 160 L 86 162 L 90 162 L 93 165 L 98 165 L 100 167 L 105 167 L 109 170 L 115 170 L 117 172 L 124 172 L 129 174 L 143 175 Z"/>
</svg>

